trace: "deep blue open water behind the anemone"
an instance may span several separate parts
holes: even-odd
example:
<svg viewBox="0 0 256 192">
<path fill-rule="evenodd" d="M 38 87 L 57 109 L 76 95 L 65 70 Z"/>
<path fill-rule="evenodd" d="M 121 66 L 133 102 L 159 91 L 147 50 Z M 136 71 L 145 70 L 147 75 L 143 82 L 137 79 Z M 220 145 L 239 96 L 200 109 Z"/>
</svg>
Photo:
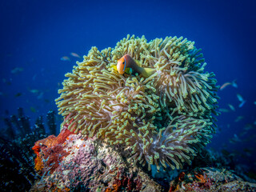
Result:
<svg viewBox="0 0 256 192">
<path fill-rule="evenodd" d="M 145 35 L 149 41 L 183 36 L 202 48 L 208 63 L 206 70 L 214 71 L 218 85 L 234 79 L 238 82 L 237 89 L 228 86 L 219 91 L 220 107 L 228 109 L 230 103 L 236 111 L 218 118 L 218 134 L 210 146 L 238 150 L 240 154 L 249 147 L 254 152 L 250 147 L 256 144 L 256 1 L 10 0 L 0 3 L 1 126 L 5 111 L 16 114 L 19 106 L 32 122 L 48 110 L 57 110 L 54 99 L 58 98 L 64 74 L 72 70 L 76 61 L 70 52 L 82 56 L 91 46 L 99 50 L 114 47 L 127 34 Z M 61 61 L 62 56 L 69 56 L 71 62 Z M 16 67 L 22 67 L 23 71 L 11 73 Z M 22 95 L 17 97 L 18 93 Z M 246 100 L 242 108 L 238 108 L 236 94 L 242 94 Z M 244 118 L 234 122 L 238 116 Z M 240 138 L 248 123 L 253 128 Z M 234 134 L 241 141 L 230 144 Z M 245 158 L 252 158 L 251 153 Z"/>
</svg>

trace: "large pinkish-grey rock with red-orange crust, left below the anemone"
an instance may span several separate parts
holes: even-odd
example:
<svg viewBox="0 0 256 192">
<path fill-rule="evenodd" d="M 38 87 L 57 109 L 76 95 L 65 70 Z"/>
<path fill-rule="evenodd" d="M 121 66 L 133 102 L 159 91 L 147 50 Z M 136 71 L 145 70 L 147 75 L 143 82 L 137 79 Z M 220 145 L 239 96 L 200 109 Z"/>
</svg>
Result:
<svg viewBox="0 0 256 192">
<path fill-rule="evenodd" d="M 58 137 L 49 136 L 36 142 L 34 151 L 42 159 L 42 170 L 38 170 L 42 178 L 30 191 L 162 190 L 162 186 L 140 168 L 124 162 L 122 156 L 106 143 L 95 137 L 71 134 L 66 128 Z"/>
</svg>

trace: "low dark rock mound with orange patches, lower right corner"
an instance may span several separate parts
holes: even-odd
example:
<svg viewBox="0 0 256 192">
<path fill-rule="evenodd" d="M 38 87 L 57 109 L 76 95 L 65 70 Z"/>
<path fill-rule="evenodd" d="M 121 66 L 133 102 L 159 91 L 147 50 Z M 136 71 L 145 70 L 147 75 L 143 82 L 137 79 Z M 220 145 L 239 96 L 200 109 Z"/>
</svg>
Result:
<svg viewBox="0 0 256 192">
<path fill-rule="evenodd" d="M 256 191 L 256 184 L 244 182 L 230 170 L 205 167 L 182 172 L 170 182 L 169 191 Z"/>
</svg>

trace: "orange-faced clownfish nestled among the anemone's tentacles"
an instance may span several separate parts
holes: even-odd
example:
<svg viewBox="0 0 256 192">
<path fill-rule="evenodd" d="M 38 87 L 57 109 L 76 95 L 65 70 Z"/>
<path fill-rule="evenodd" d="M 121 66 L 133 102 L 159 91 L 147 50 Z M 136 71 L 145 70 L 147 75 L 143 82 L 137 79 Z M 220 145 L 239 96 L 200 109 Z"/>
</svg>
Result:
<svg viewBox="0 0 256 192">
<path fill-rule="evenodd" d="M 144 78 L 148 78 L 151 74 L 156 72 L 156 70 L 152 68 L 144 68 L 141 66 L 142 65 L 137 60 L 134 60 L 134 58 L 130 57 L 129 54 L 126 54 L 118 60 L 116 70 L 118 70 L 119 74 L 142 74 Z"/>
</svg>

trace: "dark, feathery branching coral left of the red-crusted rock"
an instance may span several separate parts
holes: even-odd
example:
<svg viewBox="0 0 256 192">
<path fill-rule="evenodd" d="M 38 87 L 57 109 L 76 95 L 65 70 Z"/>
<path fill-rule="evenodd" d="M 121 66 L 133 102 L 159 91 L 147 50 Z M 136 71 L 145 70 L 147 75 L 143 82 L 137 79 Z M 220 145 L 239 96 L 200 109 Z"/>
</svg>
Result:
<svg viewBox="0 0 256 192">
<path fill-rule="evenodd" d="M 54 120 L 55 114 L 50 114 Z M 30 118 L 22 108 L 18 115 L 4 119 L 6 130 L 0 136 L 0 188 L 1 191 L 28 191 L 39 175 L 34 170 L 34 153 L 31 150 L 34 142 L 46 138 L 46 127 L 42 117 L 34 126 L 30 126 Z M 54 130 L 54 127 L 50 128 Z"/>
</svg>

